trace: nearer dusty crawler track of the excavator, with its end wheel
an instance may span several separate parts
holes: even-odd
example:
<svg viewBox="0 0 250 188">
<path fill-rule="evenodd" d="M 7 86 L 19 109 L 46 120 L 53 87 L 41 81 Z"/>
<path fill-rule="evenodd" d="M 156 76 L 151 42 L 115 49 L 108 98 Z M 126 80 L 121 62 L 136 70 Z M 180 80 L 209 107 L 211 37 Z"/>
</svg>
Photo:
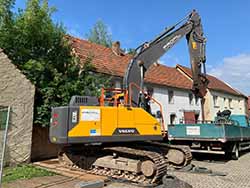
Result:
<svg viewBox="0 0 250 188">
<path fill-rule="evenodd" d="M 109 154 L 109 156 L 116 153 L 123 158 L 127 156 L 128 160 L 131 160 L 130 158 L 139 160 L 139 167 L 144 169 L 142 171 L 144 171 L 145 174 L 142 171 L 136 173 L 129 170 L 119 170 L 118 168 L 103 167 L 103 165 L 96 164 L 94 161 L 102 159 L 102 156 L 99 156 L 99 158 L 96 157 L 94 160 L 92 158 L 92 165 L 88 165 L 91 161 L 89 160 L 90 156 L 83 156 L 83 153 L 86 152 L 73 153 L 72 151 L 66 151 L 64 149 L 59 154 L 59 162 L 71 170 L 87 171 L 91 174 L 132 182 L 140 186 L 155 186 L 159 184 L 162 177 L 167 172 L 167 162 L 165 157 L 154 151 L 152 147 L 147 147 L 143 150 L 129 147 L 106 147 L 100 149 L 98 152 Z M 86 162 L 85 160 L 88 161 Z M 153 169 L 153 171 L 148 171 L 148 169 Z"/>
</svg>

